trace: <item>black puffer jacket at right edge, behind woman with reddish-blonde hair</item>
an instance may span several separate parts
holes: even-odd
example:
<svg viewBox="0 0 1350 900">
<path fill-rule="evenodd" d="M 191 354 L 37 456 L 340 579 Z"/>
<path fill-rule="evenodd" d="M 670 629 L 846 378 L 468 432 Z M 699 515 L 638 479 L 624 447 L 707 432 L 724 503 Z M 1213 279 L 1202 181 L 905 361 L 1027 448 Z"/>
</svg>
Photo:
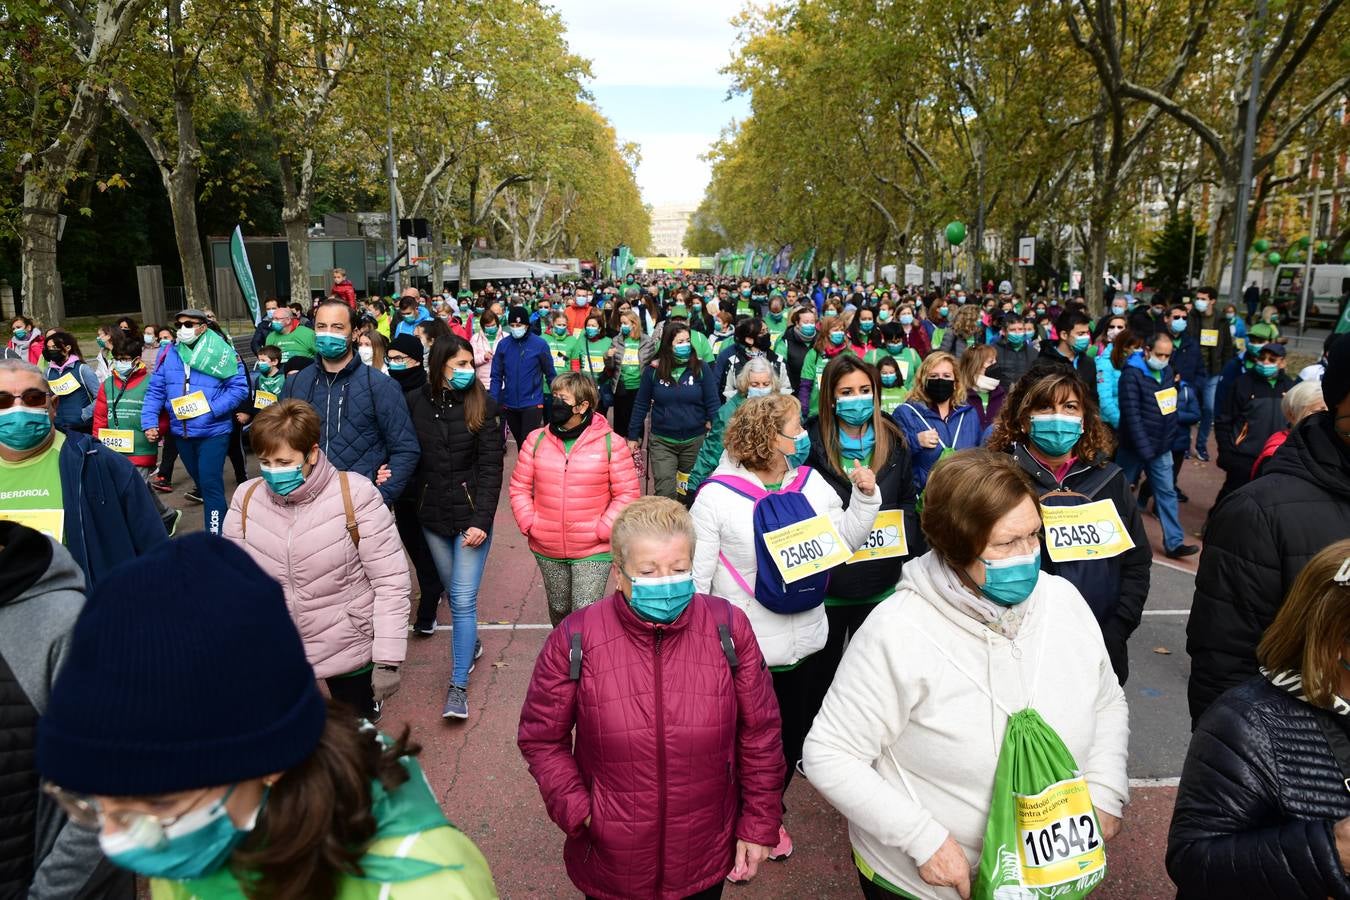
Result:
<svg viewBox="0 0 1350 900">
<path fill-rule="evenodd" d="M 1261 478 L 1210 514 L 1187 622 L 1191 721 L 1257 672 L 1257 644 L 1293 580 L 1350 537 L 1350 448 L 1330 413 L 1299 422 Z"/>
</svg>

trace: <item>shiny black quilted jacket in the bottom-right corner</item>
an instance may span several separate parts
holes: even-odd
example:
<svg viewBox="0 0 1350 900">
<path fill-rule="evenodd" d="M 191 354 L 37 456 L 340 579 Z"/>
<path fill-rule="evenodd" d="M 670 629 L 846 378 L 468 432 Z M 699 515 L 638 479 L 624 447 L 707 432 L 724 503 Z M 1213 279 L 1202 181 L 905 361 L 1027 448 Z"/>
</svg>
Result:
<svg viewBox="0 0 1350 900">
<path fill-rule="evenodd" d="M 1296 672 L 1256 676 L 1200 718 L 1168 833 L 1179 900 L 1350 897 L 1335 823 L 1345 776 L 1319 719 L 1350 730 L 1350 708 L 1314 707 Z"/>
</svg>

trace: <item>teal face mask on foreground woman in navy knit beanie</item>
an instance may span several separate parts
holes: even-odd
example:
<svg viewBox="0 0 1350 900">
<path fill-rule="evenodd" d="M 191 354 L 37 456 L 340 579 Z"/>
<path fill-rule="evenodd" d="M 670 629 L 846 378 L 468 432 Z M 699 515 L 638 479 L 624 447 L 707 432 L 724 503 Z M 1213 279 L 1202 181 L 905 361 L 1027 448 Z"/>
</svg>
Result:
<svg viewBox="0 0 1350 900">
<path fill-rule="evenodd" d="M 147 878 L 186 881 L 208 876 L 225 865 L 230 854 L 258 824 L 258 815 L 267 803 L 265 792 L 247 827 L 236 828 L 225 811 L 225 800 L 232 792 L 234 788 L 220 800 L 193 810 L 167 826 L 143 819 L 130 831 L 100 833 L 99 846 L 112 864 Z"/>
</svg>

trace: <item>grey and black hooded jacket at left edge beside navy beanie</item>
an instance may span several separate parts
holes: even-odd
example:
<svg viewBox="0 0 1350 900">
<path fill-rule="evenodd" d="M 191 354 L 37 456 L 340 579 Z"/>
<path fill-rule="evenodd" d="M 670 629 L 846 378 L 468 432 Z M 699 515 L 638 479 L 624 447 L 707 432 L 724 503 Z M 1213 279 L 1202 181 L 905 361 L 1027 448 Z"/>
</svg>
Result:
<svg viewBox="0 0 1350 900">
<path fill-rule="evenodd" d="M 103 857 L 99 833 L 72 824 L 38 788 L 38 716 L 47 708 L 85 578 L 61 545 L 0 521 L 0 895 L 28 900 L 131 897 L 131 873 Z"/>
</svg>

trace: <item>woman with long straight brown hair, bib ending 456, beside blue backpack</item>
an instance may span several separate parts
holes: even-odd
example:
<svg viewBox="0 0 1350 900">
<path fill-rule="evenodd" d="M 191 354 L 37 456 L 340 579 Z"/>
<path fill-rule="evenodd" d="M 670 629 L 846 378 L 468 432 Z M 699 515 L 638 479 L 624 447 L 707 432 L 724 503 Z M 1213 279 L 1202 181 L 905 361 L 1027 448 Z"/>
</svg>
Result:
<svg viewBox="0 0 1350 900">
<path fill-rule="evenodd" d="M 825 399 L 819 418 L 807 422 L 811 436 L 807 464 L 829 482 L 845 506 L 853 488 L 849 472 L 863 466 L 876 472 L 882 497 L 867 549 L 830 572 L 825 594 L 830 633 L 819 654 L 833 677 L 844 642 L 895 590 L 905 560 L 919 556 L 926 546 L 914 513 L 910 451 L 900 426 L 880 403 L 876 370 L 846 354 L 838 356 L 825 367 L 821 393 Z"/>
</svg>

